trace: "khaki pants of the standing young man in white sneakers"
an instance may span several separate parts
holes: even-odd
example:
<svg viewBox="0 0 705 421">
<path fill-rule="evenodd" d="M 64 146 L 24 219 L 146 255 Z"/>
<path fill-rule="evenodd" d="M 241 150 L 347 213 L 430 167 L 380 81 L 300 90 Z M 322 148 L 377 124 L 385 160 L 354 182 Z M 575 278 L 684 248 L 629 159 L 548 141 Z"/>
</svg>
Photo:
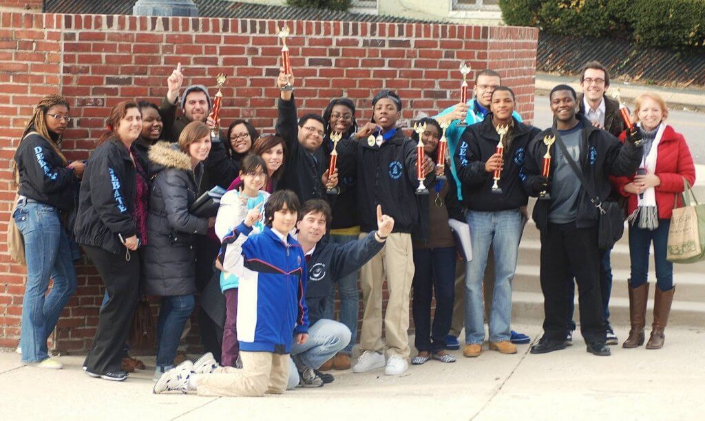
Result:
<svg viewBox="0 0 705 421">
<path fill-rule="evenodd" d="M 360 238 L 367 236 L 362 232 Z M 409 358 L 409 300 L 414 279 L 414 257 L 411 234 L 394 232 L 387 237 L 384 248 L 362 266 L 362 329 L 360 348 L 384 352 L 382 341 L 382 284 L 387 279 L 389 298 L 384 315 L 387 357 Z"/>
</svg>

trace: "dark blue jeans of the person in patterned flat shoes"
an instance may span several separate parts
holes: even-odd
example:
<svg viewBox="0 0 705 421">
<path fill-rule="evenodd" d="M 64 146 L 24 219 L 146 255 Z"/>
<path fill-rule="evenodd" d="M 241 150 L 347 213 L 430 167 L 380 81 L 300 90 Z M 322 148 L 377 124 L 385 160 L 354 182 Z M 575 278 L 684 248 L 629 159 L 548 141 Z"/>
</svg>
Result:
<svg viewBox="0 0 705 421">
<path fill-rule="evenodd" d="M 412 315 L 416 327 L 415 346 L 436 353 L 446 348 L 446 336 L 453 318 L 455 296 L 455 247 L 414 250 Z M 431 300 L 436 296 L 433 328 Z"/>
</svg>

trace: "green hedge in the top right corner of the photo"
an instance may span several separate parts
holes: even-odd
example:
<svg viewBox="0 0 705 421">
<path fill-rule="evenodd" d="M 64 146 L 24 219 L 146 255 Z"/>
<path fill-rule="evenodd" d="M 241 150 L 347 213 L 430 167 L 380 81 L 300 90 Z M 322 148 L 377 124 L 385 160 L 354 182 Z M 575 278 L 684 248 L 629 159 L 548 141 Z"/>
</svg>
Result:
<svg viewBox="0 0 705 421">
<path fill-rule="evenodd" d="M 555 34 L 705 49 L 705 0 L 500 0 L 505 23 Z"/>
</svg>

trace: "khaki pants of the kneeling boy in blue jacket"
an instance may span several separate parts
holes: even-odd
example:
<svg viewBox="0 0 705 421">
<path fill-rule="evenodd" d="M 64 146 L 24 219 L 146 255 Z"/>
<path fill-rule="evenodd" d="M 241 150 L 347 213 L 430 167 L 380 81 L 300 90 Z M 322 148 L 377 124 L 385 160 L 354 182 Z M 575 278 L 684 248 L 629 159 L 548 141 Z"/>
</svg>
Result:
<svg viewBox="0 0 705 421">
<path fill-rule="evenodd" d="M 289 379 L 289 354 L 240 351 L 243 368 L 218 367 L 196 380 L 200 396 L 283 394 Z"/>
</svg>

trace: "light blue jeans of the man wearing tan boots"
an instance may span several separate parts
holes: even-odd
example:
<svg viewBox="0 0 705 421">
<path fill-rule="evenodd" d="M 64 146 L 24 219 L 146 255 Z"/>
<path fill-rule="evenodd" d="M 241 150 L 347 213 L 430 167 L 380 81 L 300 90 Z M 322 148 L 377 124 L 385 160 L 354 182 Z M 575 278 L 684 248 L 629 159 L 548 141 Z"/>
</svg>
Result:
<svg viewBox="0 0 705 421">
<path fill-rule="evenodd" d="M 517 268 L 519 241 L 525 220 L 519 209 L 496 212 L 467 212 L 472 239 L 472 261 L 465 270 L 465 344 L 484 341 L 482 278 L 487 253 L 494 249 L 494 294 L 489 316 L 489 340 L 508 341 L 511 337 L 512 279 Z"/>
</svg>

